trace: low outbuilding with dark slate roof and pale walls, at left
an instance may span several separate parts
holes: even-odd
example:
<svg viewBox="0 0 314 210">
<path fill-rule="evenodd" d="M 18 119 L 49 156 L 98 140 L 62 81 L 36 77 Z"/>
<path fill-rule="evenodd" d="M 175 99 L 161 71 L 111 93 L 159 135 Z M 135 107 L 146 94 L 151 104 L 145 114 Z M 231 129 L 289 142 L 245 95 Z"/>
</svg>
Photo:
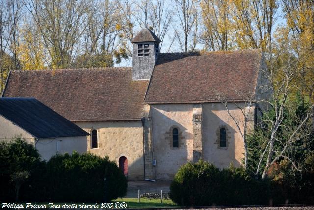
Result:
<svg viewBox="0 0 314 210">
<path fill-rule="evenodd" d="M 22 136 L 43 160 L 87 151 L 89 134 L 35 98 L 0 98 L 0 141 Z"/>
</svg>

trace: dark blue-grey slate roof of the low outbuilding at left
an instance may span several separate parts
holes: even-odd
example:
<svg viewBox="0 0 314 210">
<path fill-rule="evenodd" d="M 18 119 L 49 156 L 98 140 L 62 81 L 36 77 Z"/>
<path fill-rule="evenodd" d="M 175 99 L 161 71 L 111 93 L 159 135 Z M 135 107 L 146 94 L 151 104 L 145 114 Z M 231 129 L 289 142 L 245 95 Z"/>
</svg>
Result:
<svg viewBox="0 0 314 210">
<path fill-rule="evenodd" d="M 39 139 L 89 135 L 35 98 L 0 98 L 0 115 Z"/>
</svg>

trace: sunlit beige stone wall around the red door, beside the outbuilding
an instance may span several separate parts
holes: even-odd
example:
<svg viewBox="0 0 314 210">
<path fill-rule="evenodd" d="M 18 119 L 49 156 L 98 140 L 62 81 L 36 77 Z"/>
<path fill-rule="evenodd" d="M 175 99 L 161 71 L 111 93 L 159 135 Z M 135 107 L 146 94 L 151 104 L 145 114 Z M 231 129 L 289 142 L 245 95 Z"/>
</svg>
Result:
<svg viewBox="0 0 314 210">
<path fill-rule="evenodd" d="M 119 158 L 125 156 L 128 160 L 128 179 L 144 179 L 143 159 L 143 126 L 138 121 L 95 121 L 76 122 L 90 133 L 98 132 L 98 148 L 91 148 L 91 136 L 87 137 L 87 150 L 104 157 L 109 156 L 119 165 Z"/>
</svg>

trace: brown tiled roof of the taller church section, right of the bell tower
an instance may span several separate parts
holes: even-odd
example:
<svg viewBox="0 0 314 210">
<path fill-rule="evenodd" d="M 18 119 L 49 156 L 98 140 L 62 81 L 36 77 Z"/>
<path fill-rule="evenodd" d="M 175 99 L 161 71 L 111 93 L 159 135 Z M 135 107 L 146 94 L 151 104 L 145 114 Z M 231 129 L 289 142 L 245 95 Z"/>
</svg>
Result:
<svg viewBox="0 0 314 210">
<path fill-rule="evenodd" d="M 144 103 L 217 102 L 217 93 L 243 101 L 255 92 L 261 59 L 260 50 L 160 53 Z"/>
</svg>

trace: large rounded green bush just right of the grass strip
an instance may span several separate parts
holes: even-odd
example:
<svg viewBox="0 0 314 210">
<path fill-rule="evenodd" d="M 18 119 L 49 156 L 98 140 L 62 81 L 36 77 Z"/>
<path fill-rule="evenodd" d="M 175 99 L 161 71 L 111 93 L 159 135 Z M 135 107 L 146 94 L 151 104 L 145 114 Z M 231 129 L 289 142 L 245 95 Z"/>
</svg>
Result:
<svg viewBox="0 0 314 210">
<path fill-rule="evenodd" d="M 205 161 L 183 165 L 170 185 L 170 198 L 183 206 L 263 204 L 267 195 L 267 184 L 243 168 L 219 170 Z"/>
</svg>

